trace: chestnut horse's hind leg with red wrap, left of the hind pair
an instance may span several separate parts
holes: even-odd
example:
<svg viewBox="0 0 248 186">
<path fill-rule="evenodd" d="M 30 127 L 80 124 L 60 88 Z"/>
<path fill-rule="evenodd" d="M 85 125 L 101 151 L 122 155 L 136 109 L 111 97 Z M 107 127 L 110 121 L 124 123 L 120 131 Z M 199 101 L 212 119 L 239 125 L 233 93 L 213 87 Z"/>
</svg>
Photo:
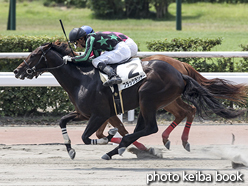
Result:
<svg viewBox="0 0 248 186">
<path fill-rule="evenodd" d="M 181 98 L 178 98 L 177 100 L 181 100 Z M 173 101 L 170 105 L 164 107 L 166 111 L 170 112 L 175 116 L 175 120 L 162 133 L 163 143 L 167 149 L 170 149 L 170 133 L 187 116 L 187 111 L 178 104 L 177 100 Z"/>
</svg>

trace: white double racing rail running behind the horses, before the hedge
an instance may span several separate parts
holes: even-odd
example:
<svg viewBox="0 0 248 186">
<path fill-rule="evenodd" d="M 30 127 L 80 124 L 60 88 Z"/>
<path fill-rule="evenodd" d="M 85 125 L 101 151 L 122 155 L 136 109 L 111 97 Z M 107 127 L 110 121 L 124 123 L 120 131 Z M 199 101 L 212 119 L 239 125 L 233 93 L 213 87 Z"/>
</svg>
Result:
<svg viewBox="0 0 248 186">
<path fill-rule="evenodd" d="M 0 53 L 0 59 L 20 59 L 26 58 L 30 53 Z M 243 58 L 248 57 L 248 52 L 138 52 L 137 57 L 147 57 L 151 55 L 166 55 L 169 57 L 194 57 L 194 58 L 218 58 L 218 57 L 231 57 L 231 58 Z M 235 83 L 245 83 L 248 84 L 248 72 L 209 72 L 201 73 L 204 77 L 208 79 L 221 78 Z M 0 86 L 2 87 L 46 87 L 46 86 L 60 86 L 57 80 L 50 73 L 43 73 L 39 78 L 34 78 L 32 80 L 16 79 L 13 72 L 0 72 Z M 122 116 L 120 116 L 122 119 Z M 128 112 L 128 121 L 134 120 L 134 111 Z"/>
</svg>

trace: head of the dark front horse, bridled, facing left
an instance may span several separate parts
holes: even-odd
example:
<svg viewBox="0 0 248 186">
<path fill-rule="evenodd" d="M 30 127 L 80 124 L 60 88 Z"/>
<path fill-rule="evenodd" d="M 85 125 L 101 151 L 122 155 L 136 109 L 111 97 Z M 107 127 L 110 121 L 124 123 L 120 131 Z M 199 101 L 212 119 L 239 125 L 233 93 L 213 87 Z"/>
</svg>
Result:
<svg viewBox="0 0 248 186">
<path fill-rule="evenodd" d="M 47 53 L 51 50 L 52 43 L 44 44 L 36 48 L 31 54 L 14 70 L 16 78 L 32 79 L 42 73 L 40 69 L 45 69 L 47 64 Z"/>
</svg>

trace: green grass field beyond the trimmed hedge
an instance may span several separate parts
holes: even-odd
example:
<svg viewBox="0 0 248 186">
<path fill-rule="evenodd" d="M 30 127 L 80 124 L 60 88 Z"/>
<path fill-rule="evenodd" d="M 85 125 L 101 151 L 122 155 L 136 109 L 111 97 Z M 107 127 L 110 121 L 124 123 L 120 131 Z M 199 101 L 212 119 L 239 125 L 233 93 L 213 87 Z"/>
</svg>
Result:
<svg viewBox="0 0 248 186">
<path fill-rule="evenodd" d="M 44 7 L 42 1 L 17 3 L 16 31 L 7 31 L 9 3 L 0 0 L 1 35 L 62 36 L 59 19 L 63 20 L 67 35 L 74 27 L 90 25 L 95 31 L 119 31 L 132 37 L 141 51 L 148 51 L 146 41 L 188 38 L 222 37 L 221 46 L 214 51 L 240 51 L 240 44 L 248 44 L 246 4 L 182 4 L 182 31 L 176 31 L 176 4 L 169 6 L 167 19 L 94 19 L 89 9 Z"/>
</svg>

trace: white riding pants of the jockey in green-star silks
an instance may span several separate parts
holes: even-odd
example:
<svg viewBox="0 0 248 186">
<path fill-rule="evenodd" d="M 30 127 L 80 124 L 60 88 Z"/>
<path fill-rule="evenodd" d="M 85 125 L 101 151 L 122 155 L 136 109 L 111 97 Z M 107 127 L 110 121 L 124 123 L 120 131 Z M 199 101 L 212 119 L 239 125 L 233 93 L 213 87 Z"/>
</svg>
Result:
<svg viewBox="0 0 248 186">
<path fill-rule="evenodd" d="M 124 41 L 118 43 L 114 50 L 105 51 L 102 55 L 92 60 L 92 64 L 97 68 L 100 62 L 105 64 L 121 63 L 131 57 L 129 46 Z"/>
</svg>

